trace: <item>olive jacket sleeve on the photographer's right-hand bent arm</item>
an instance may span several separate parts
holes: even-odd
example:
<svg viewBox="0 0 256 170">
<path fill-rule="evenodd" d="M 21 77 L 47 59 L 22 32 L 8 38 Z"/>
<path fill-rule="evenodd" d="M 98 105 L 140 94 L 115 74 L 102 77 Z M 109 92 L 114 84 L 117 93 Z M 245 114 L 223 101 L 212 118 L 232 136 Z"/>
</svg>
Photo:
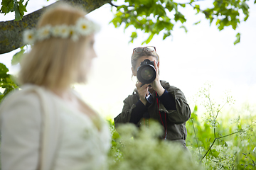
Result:
<svg viewBox="0 0 256 170">
<path fill-rule="evenodd" d="M 164 111 L 171 123 L 181 124 L 186 123 L 186 121 L 191 117 L 191 110 L 188 106 L 186 98 L 180 89 L 175 89 L 173 91 L 168 91 L 171 97 L 175 100 L 176 110 L 167 110 L 164 104 L 159 104 L 159 111 Z"/>
</svg>

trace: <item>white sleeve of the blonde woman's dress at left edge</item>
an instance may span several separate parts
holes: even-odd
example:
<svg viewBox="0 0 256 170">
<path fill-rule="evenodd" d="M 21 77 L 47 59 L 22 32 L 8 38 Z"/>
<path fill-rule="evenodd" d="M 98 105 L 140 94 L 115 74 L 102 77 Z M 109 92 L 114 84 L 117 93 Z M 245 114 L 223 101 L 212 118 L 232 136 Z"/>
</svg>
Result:
<svg viewBox="0 0 256 170">
<path fill-rule="evenodd" d="M 1 103 L 1 169 L 38 169 L 41 106 L 36 94 Z M 7 99 L 7 98 L 6 98 Z"/>
</svg>

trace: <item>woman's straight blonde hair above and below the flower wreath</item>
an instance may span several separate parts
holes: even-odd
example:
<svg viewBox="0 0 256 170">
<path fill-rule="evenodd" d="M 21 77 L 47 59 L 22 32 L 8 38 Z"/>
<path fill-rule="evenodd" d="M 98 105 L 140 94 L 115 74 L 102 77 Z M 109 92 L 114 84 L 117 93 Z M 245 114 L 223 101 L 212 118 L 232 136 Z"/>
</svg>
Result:
<svg viewBox="0 0 256 170">
<path fill-rule="evenodd" d="M 43 13 L 37 28 L 46 25 L 75 25 L 78 18 L 85 15 L 85 11 L 80 8 L 57 3 Z M 21 62 L 20 83 L 65 89 L 70 84 L 84 81 L 79 79 L 78 68 L 82 60 L 85 60 L 86 42 L 87 36 L 80 37 L 76 42 L 71 38 L 55 37 L 36 42 Z"/>
</svg>

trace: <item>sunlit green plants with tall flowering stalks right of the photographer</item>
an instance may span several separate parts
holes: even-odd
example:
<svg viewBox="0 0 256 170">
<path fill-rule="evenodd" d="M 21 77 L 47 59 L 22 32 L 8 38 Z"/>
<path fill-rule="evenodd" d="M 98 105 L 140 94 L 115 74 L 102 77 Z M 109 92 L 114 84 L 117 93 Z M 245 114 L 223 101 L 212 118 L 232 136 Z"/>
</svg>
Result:
<svg viewBox="0 0 256 170">
<path fill-rule="evenodd" d="M 198 108 L 195 106 L 191 119 L 186 124 L 186 142 L 194 156 L 198 157 L 198 161 L 206 169 L 254 169 L 255 111 L 250 111 L 247 107 L 240 113 L 225 113 L 225 116 L 218 118 L 223 107 L 234 102 L 233 98 L 226 94 L 224 103 L 217 105 L 210 98 L 210 84 L 201 89 L 200 96 L 206 99 L 203 102 L 205 115 L 199 120 L 196 115 Z M 250 115 L 242 115 L 243 113 Z"/>
</svg>

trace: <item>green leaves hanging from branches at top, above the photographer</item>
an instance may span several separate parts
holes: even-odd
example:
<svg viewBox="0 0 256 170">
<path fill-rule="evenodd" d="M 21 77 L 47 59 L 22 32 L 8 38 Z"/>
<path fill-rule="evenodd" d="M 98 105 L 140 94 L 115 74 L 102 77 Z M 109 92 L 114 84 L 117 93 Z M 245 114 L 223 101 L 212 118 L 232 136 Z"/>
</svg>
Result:
<svg viewBox="0 0 256 170">
<path fill-rule="evenodd" d="M 203 0 L 202 0 L 203 1 Z M 218 30 L 223 30 L 225 27 L 232 26 L 234 30 L 238 28 L 241 20 L 246 21 L 249 17 L 248 0 L 215 0 L 209 8 L 200 6 L 201 0 L 188 0 L 188 2 L 180 3 L 174 0 L 125 0 L 124 4 L 116 7 L 114 18 L 111 23 L 117 28 L 124 23 L 124 30 L 129 26 L 133 26 L 136 30 L 132 32 L 131 41 L 137 38 L 137 30 L 142 30 L 148 33 L 149 37 L 142 42 L 149 43 L 154 35 L 160 32 L 164 33 L 163 40 L 171 36 L 171 31 L 177 23 L 181 23 L 180 28 L 184 28 L 186 16 L 181 13 L 181 8 L 193 8 L 198 13 L 203 15 L 211 23 L 218 26 Z M 256 1 L 255 1 L 256 2 Z M 197 25 L 198 21 L 195 23 Z M 234 45 L 240 42 L 240 33 L 237 33 Z"/>
</svg>

